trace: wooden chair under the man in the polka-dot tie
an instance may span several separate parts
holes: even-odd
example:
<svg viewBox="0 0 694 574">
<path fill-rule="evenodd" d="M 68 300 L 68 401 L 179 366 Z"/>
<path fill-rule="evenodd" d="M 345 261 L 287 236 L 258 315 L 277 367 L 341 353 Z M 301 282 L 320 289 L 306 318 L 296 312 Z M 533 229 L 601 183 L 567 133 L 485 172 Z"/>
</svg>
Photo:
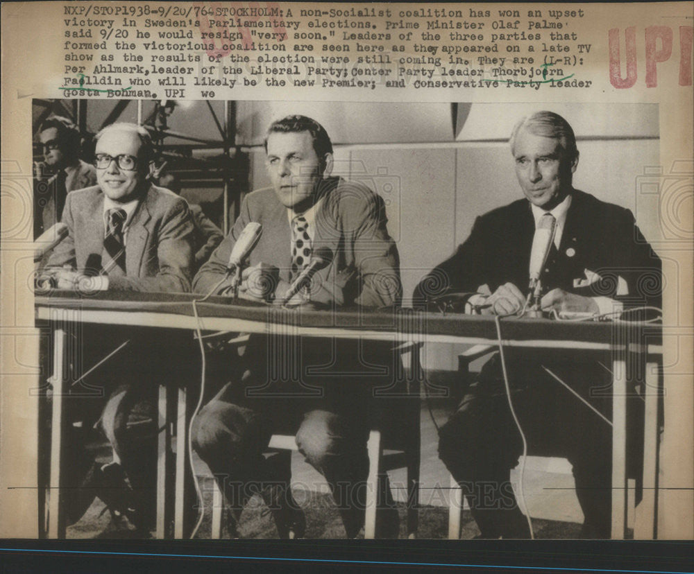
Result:
<svg viewBox="0 0 694 574">
<path fill-rule="evenodd" d="M 373 424 L 369 433 L 366 450 L 369 454 L 369 477 L 366 485 L 366 516 L 364 519 L 364 538 L 373 539 L 376 534 L 376 510 L 378 494 L 384 488 L 387 471 L 407 469 L 407 536 L 416 538 L 419 505 L 419 466 L 420 466 L 420 381 L 423 379 L 419 352 L 421 343 L 405 343 L 394 351 L 400 356 L 396 361 L 393 385 L 375 390 L 375 395 L 389 397 L 389 401 L 399 403 L 397 412 L 403 425 L 392 432 L 391 428 L 379 428 Z M 407 369 L 405 356 L 409 354 Z M 273 435 L 269 451 L 297 451 L 294 435 Z M 291 457 L 287 457 L 291 464 Z M 217 481 L 213 486 L 212 539 L 221 538 L 223 528 L 224 501 Z"/>
</svg>

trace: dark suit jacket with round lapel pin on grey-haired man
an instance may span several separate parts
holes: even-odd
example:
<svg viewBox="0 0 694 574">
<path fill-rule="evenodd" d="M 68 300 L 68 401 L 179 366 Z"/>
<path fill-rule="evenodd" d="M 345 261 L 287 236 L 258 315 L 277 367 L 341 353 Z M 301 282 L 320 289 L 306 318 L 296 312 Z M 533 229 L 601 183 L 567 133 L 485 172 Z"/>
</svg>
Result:
<svg viewBox="0 0 694 574">
<path fill-rule="evenodd" d="M 661 261 L 636 227 L 631 211 L 573 190 L 564 232 L 541 275 L 543 293 L 562 288 L 606 296 L 628 306 L 661 302 Z M 535 223 L 525 198 L 477 217 L 468 239 L 417 286 L 415 304 L 452 292 L 493 293 L 507 281 L 527 292 Z M 598 274 L 586 277 L 586 270 Z M 625 287 L 627 292 L 625 293 Z"/>
</svg>

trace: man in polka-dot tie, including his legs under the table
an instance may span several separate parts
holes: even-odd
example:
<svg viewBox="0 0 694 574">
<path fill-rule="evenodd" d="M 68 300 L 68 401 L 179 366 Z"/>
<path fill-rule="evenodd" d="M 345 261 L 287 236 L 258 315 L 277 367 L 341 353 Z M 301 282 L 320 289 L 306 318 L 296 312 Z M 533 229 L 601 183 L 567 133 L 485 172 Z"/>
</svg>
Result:
<svg viewBox="0 0 694 574">
<path fill-rule="evenodd" d="M 272 187 L 244 199 L 230 234 L 196 275 L 194 291 L 232 292 L 231 279 L 225 279 L 232 248 L 246 225 L 257 222 L 263 231 L 242 275 L 242 297 L 281 301 L 313 254 L 328 249 L 332 263 L 291 304 L 396 304 L 398 252 L 386 229 L 383 201 L 362 184 L 330 177 L 332 143 L 323 127 L 304 116 L 288 116 L 271 125 L 265 146 Z M 264 489 L 264 496 L 275 507 L 280 537 L 303 535 L 305 521 L 291 500 L 289 476 L 262 457 L 272 433 L 296 433 L 299 450 L 328 480 L 348 537 L 357 535 L 364 523 L 369 472 L 369 367 L 359 365 L 357 357 L 377 354 L 375 347 L 365 350 L 357 341 L 251 338 L 240 376 L 232 377 L 241 380 L 221 389 L 196 417 L 192 431 L 196 451 L 237 514 L 244 496 L 233 494 L 230 484 L 274 482 L 277 488 L 269 494 Z M 263 391 L 254 394 L 253 387 Z"/>
</svg>

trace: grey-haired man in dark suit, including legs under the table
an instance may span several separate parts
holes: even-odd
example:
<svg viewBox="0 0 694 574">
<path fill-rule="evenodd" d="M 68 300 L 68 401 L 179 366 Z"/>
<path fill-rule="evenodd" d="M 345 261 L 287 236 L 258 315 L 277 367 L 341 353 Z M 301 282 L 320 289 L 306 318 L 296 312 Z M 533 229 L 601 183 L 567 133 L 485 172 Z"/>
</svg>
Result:
<svg viewBox="0 0 694 574">
<path fill-rule="evenodd" d="M 419 284 L 416 302 L 446 292 L 474 293 L 468 309 L 522 311 L 533 237 L 536 227 L 545 227 L 553 236 L 540 277 L 544 311 L 618 315 L 624 308 L 659 306 L 661 264 L 631 212 L 573 188 L 579 153 L 566 120 L 552 112 L 521 120 L 511 153 L 525 198 L 478 217 L 465 243 Z M 591 390 L 609 386 L 609 372 L 566 351 L 509 349 L 506 355 L 511 399 L 529 453 L 568 458 L 585 515 L 584 536 L 609 537 L 611 430 L 545 369 L 603 413 L 610 412 L 609 397 Z M 462 485 L 482 537 L 530 536 L 508 482 L 521 451 L 494 356 L 441 428 L 439 442 L 441 460 Z"/>
</svg>

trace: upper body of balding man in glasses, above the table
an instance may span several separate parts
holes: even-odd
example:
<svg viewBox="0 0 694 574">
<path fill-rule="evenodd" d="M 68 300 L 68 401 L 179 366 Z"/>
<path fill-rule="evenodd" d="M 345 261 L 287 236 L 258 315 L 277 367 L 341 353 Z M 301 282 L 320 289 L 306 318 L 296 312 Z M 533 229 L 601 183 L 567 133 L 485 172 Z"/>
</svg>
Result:
<svg viewBox="0 0 694 574">
<path fill-rule="evenodd" d="M 149 183 L 149 133 L 109 125 L 96 134 L 94 152 L 98 184 L 67 197 L 62 221 L 69 236 L 48 261 L 56 287 L 189 291 L 192 216 L 183 198 Z"/>
</svg>

